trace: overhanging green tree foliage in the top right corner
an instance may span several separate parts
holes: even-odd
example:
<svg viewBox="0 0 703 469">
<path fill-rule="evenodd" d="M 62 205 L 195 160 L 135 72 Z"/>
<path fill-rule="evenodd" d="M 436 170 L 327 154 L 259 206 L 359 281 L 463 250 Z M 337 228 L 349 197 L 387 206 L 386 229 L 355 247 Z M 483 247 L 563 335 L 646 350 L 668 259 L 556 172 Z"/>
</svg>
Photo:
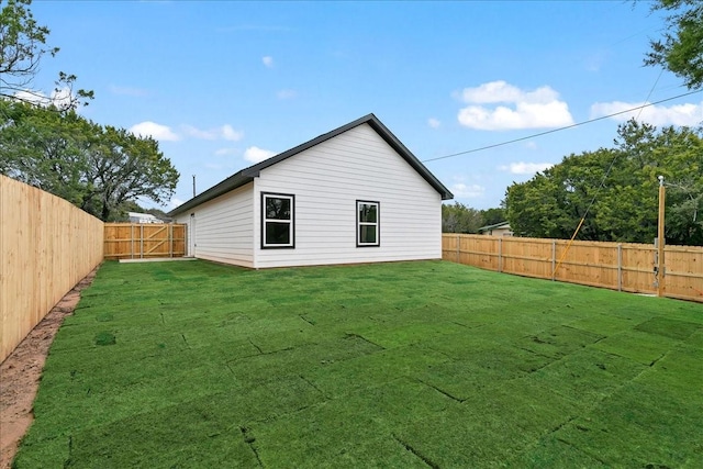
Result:
<svg viewBox="0 0 703 469">
<path fill-rule="evenodd" d="M 656 0 L 654 11 L 665 10 L 665 33 L 651 41 L 646 65 L 660 65 L 685 80 L 690 89 L 703 86 L 703 2 Z"/>
</svg>

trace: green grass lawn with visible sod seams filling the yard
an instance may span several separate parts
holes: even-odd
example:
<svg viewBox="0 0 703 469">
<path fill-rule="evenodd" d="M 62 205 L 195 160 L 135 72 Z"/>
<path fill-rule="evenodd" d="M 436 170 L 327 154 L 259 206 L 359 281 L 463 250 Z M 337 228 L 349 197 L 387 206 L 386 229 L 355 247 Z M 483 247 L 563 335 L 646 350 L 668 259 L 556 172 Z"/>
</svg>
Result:
<svg viewBox="0 0 703 469">
<path fill-rule="evenodd" d="M 104 264 L 16 468 L 703 467 L 703 305 L 444 261 Z"/>
</svg>

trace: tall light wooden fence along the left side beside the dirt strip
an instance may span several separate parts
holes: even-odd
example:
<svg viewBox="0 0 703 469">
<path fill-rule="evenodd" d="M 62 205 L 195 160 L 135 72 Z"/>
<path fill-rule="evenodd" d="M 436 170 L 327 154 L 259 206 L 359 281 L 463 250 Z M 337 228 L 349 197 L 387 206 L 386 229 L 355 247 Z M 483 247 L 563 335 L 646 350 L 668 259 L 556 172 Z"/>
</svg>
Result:
<svg viewBox="0 0 703 469">
<path fill-rule="evenodd" d="M 0 362 L 102 261 L 102 222 L 0 176 Z"/>
</svg>

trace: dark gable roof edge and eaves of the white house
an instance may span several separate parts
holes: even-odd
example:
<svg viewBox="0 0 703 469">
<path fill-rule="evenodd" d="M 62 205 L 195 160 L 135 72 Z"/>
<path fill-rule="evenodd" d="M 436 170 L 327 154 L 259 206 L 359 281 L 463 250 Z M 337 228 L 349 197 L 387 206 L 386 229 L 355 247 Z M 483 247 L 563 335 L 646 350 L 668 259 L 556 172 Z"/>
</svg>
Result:
<svg viewBox="0 0 703 469">
<path fill-rule="evenodd" d="M 415 155 L 413 155 L 406 147 L 403 145 L 395 135 L 391 131 L 388 130 L 386 125 L 378 120 L 378 118 L 373 114 L 367 114 L 364 118 L 357 119 L 356 121 L 349 122 L 346 125 L 343 125 L 334 131 L 327 132 L 326 134 L 322 134 L 316 138 L 313 138 L 309 142 L 305 142 L 301 145 L 298 145 L 289 150 L 280 153 L 271 158 L 265 159 L 261 163 L 257 163 L 256 165 L 249 166 L 248 168 L 244 168 L 241 171 L 230 176 L 227 179 L 222 182 L 211 187 L 204 192 L 196 196 L 183 204 L 177 206 L 167 213 L 168 216 L 176 216 L 179 213 L 182 213 L 193 206 L 200 205 L 203 202 L 212 200 L 216 197 L 220 197 L 231 190 L 234 190 L 238 187 L 242 187 L 246 183 L 249 183 L 254 180 L 254 178 L 259 176 L 261 169 L 268 168 L 269 166 L 274 166 L 277 163 L 282 161 L 283 159 L 288 159 L 291 156 L 298 155 L 301 152 L 306 150 L 317 144 L 321 144 L 330 138 L 336 137 L 339 134 L 345 133 L 358 125 L 369 124 L 371 129 L 376 131 L 377 134 L 381 136 L 400 156 L 408 161 L 410 166 L 413 167 L 420 176 L 422 176 L 439 194 L 442 196 L 442 200 L 454 199 L 454 194 L 449 192 L 439 179 L 437 179 L 425 166 L 420 163 L 420 159 Z"/>
</svg>

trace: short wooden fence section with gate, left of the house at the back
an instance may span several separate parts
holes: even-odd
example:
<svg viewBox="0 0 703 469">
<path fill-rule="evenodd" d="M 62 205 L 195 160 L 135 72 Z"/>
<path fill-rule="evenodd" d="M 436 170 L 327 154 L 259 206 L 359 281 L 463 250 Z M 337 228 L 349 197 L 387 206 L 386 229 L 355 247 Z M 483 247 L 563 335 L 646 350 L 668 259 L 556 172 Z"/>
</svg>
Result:
<svg viewBox="0 0 703 469">
<path fill-rule="evenodd" d="M 105 259 L 183 257 L 186 225 L 105 223 Z"/>
</svg>

